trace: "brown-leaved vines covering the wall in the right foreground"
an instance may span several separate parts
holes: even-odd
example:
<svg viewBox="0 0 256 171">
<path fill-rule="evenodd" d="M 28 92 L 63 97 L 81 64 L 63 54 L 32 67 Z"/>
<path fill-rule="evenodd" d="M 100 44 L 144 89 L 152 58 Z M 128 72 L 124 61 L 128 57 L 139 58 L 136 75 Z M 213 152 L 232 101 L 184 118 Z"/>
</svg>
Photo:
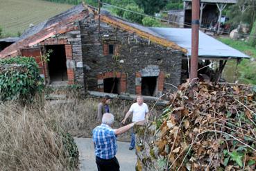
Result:
<svg viewBox="0 0 256 171">
<path fill-rule="evenodd" d="M 145 170 L 255 170 L 255 95 L 246 85 L 180 85 L 139 135 L 138 163 Z"/>
</svg>

